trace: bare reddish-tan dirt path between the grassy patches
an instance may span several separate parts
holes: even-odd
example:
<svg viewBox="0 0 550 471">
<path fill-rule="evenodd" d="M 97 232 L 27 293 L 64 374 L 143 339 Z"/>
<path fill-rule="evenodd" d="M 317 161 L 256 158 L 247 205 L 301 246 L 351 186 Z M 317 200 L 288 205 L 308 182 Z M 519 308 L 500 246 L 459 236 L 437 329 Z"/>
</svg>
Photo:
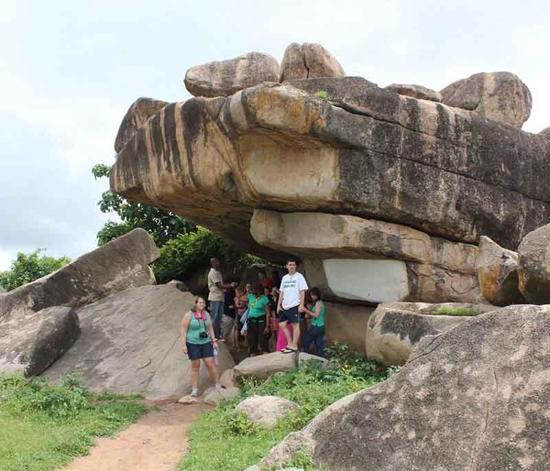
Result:
<svg viewBox="0 0 550 471">
<path fill-rule="evenodd" d="M 100 438 L 85 457 L 59 471 L 174 471 L 187 450 L 187 430 L 209 406 L 162 404 L 111 438 Z"/>
</svg>

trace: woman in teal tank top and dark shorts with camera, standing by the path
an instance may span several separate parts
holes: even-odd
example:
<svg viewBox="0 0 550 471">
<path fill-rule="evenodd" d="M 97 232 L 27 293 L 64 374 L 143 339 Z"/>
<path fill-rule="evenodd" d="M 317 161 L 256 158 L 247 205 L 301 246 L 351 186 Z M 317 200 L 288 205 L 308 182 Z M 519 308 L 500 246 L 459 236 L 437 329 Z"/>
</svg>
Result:
<svg viewBox="0 0 550 471">
<path fill-rule="evenodd" d="M 212 381 L 219 388 L 218 371 L 214 364 L 214 348 L 217 349 L 216 336 L 212 329 L 210 314 L 204 309 L 204 298 L 197 296 L 192 309 L 181 320 L 181 341 L 191 362 L 191 395 L 199 395 L 199 369 L 201 360 L 208 369 Z"/>
</svg>

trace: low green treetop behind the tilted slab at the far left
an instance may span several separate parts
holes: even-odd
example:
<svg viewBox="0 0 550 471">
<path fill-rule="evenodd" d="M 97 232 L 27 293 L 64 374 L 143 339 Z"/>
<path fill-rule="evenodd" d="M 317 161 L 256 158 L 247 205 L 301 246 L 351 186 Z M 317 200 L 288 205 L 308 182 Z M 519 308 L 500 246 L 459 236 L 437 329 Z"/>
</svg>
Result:
<svg viewBox="0 0 550 471">
<path fill-rule="evenodd" d="M 41 252 L 45 252 L 45 249 L 35 250 L 31 254 L 19 252 L 17 259 L 12 261 L 11 270 L 0 273 L 0 285 L 10 291 L 55 272 L 71 261 L 68 256 L 59 259 L 53 256 L 40 256 Z"/>
</svg>

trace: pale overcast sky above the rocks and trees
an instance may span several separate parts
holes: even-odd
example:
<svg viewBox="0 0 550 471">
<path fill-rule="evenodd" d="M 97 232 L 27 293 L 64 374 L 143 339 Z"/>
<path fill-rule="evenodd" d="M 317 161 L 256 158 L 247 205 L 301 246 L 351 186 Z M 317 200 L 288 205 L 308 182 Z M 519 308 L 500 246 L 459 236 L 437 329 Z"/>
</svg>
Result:
<svg viewBox="0 0 550 471">
<path fill-rule="evenodd" d="M 136 98 L 189 98 L 193 65 L 251 51 L 281 61 L 296 41 L 381 86 L 509 71 L 531 89 L 523 129 L 537 133 L 550 126 L 549 31 L 548 1 L 3 1 L 0 270 L 17 252 L 96 247 L 108 182 L 91 166 L 113 163 Z"/>
</svg>

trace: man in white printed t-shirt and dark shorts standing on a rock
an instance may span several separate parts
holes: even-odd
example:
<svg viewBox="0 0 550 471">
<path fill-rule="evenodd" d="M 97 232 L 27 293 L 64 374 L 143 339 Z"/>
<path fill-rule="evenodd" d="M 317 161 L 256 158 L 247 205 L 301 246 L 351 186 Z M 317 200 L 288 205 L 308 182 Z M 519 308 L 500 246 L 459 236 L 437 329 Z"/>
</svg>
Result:
<svg viewBox="0 0 550 471">
<path fill-rule="evenodd" d="M 277 305 L 279 316 L 279 328 L 287 338 L 288 346 L 283 353 L 298 351 L 298 338 L 300 338 L 300 314 L 305 311 L 305 292 L 307 283 L 301 273 L 296 272 L 296 259 L 287 260 L 288 274 L 281 280 L 281 294 Z M 288 322 L 292 324 L 292 338 L 288 331 Z"/>
</svg>

